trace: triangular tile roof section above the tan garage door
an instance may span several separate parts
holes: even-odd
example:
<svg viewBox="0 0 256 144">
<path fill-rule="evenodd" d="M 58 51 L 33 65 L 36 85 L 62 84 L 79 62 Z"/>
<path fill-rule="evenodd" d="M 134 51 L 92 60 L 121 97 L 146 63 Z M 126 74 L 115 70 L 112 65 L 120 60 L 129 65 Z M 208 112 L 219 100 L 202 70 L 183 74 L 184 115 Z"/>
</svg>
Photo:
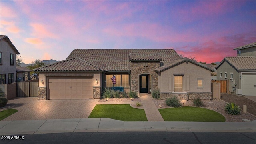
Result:
<svg viewBox="0 0 256 144">
<path fill-rule="evenodd" d="M 81 72 L 81 71 L 102 71 L 101 68 L 86 62 L 78 57 L 70 58 L 68 60 L 63 60 L 56 62 L 54 64 L 49 64 L 47 66 L 42 66 L 35 68 L 34 71 L 38 72 Z"/>
</svg>

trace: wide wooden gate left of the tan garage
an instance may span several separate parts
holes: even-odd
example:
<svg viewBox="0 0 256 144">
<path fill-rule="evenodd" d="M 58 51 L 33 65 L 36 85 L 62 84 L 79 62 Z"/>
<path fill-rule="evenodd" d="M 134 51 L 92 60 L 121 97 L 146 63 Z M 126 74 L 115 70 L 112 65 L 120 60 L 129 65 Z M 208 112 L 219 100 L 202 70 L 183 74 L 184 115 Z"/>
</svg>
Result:
<svg viewBox="0 0 256 144">
<path fill-rule="evenodd" d="M 17 97 L 38 97 L 38 82 L 17 82 Z"/>
</svg>

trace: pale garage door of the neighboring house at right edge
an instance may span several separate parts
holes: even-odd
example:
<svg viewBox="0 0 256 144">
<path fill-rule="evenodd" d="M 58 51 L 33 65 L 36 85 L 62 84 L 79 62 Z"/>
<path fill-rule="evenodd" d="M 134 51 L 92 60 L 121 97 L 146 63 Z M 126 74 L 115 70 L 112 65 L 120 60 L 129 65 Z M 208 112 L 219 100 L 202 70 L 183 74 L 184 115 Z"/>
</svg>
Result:
<svg viewBox="0 0 256 144">
<path fill-rule="evenodd" d="M 242 95 L 256 96 L 256 74 L 242 75 Z"/>
</svg>

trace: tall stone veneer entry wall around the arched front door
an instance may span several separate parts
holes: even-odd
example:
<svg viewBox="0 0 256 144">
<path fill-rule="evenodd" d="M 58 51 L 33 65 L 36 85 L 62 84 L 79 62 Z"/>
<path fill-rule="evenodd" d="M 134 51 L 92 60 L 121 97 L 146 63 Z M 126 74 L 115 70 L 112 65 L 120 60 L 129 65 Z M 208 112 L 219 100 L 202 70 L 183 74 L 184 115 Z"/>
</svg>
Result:
<svg viewBox="0 0 256 144">
<path fill-rule="evenodd" d="M 148 66 L 143 66 L 143 63 L 148 63 Z M 152 74 L 153 90 L 158 89 L 158 74 L 155 69 L 159 67 L 160 62 L 131 62 L 131 90 L 139 92 L 138 76 L 143 73 Z"/>
</svg>

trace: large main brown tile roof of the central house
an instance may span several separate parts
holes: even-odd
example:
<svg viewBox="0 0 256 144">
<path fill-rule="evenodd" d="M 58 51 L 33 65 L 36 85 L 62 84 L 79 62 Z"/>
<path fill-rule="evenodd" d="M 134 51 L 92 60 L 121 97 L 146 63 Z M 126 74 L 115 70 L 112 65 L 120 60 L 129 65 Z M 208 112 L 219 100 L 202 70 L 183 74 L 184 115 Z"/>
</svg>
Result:
<svg viewBox="0 0 256 144">
<path fill-rule="evenodd" d="M 75 49 L 67 59 L 78 57 L 108 71 L 130 71 L 130 53 L 138 54 L 134 59 L 140 59 L 139 54 L 159 54 L 160 66 L 180 58 L 173 49 Z"/>
</svg>

